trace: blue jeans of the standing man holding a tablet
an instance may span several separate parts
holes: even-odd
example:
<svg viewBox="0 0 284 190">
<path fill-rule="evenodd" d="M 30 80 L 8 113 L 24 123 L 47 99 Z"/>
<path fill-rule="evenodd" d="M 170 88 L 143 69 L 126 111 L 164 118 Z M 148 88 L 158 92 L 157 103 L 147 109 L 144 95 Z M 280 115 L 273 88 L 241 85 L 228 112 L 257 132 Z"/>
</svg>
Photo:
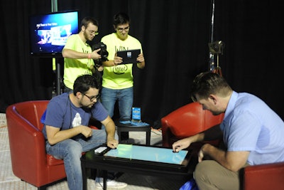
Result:
<svg viewBox="0 0 284 190">
<path fill-rule="evenodd" d="M 119 101 L 119 120 L 131 120 L 133 105 L 133 87 L 120 90 L 102 88 L 102 105 L 109 112 L 109 117 L 114 116 L 114 104 Z"/>
</svg>

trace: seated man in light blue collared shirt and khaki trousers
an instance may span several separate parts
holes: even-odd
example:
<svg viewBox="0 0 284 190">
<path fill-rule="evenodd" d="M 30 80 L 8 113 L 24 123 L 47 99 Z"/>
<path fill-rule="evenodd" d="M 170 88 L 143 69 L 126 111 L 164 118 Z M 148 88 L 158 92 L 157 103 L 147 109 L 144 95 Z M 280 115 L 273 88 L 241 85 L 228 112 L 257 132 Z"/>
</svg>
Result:
<svg viewBox="0 0 284 190">
<path fill-rule="evenodd" d="M 178 152 L 192 142 L 223 139 L 223 149 L 211 144 L 200 149 L 194 172 L 199 189 L 240 189 L 241 168 L 284 161 L 284 122 L 260 98 L 236 93 L 222 76 L 208 72 L 193 81 L 192 100 L 213 115 L 224 113 L 221 125 L 173 144 Z"/>
</svg>

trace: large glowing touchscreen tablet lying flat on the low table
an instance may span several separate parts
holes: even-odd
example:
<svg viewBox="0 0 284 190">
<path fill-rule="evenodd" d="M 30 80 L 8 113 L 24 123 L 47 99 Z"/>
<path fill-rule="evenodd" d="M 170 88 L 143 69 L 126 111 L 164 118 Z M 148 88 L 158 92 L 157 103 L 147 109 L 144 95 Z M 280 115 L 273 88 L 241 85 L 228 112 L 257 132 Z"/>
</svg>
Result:
<svg viewBox="0 0 284 190">
<path fill-rule="evenodd" d="M 182 171 L 188 168 L 192 151 L 173 152 L 167 147 L 155 147 L 143 144 L 119 144 L 116 149 L 107 148 L 102 152 L 104 161 L 118 164 L 140 164 L 146 168 L 158 168 L 170 171 Z"/>
</svg>

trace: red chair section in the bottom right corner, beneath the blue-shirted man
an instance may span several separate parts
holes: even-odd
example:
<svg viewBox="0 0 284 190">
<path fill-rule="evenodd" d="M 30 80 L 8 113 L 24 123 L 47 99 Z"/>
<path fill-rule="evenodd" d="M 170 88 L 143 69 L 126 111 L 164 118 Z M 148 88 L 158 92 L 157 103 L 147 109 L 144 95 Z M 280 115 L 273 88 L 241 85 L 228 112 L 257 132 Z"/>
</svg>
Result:
<svg viewBox="0 0 284 190">
<path fill-rule="evenodd" d="M 249 166 L 244 169 L 244 190 L 284 189 L 284 162 Z"/>
</svg>

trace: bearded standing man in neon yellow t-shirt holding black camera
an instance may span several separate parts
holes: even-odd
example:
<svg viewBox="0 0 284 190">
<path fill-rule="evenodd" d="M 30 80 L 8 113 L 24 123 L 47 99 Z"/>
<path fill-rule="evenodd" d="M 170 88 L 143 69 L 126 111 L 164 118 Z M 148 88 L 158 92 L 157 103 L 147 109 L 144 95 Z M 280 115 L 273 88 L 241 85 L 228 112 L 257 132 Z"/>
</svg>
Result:
<svg viewBox="0 0 284 190">
<path fill-rule="evenodd" d="M 91 17 L 85 17 L 81 22 L 81 31 L 67 39 L 62 50 L 64 57 L 64 92 L 69 93 L 79 75 L 94 73 L 94 60 L 101 58 L 101 48 L 92 51 L 87 41 L 92 41 L 98 34 L 98 22 Z"/>
</svg>

